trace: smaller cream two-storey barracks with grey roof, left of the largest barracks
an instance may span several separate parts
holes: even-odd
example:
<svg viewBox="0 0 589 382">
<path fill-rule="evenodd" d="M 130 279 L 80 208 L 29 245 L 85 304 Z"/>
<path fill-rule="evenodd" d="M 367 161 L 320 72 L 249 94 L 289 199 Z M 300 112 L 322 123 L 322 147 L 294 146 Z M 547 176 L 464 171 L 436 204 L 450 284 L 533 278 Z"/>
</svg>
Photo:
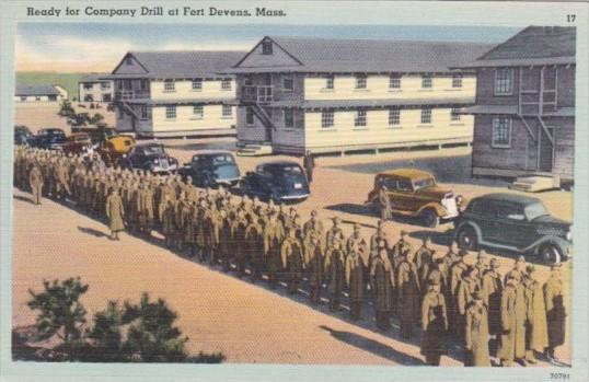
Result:
<svg viewBox="0 0 589 382">
<path fill-rule="evenodd" d="M 141 137 L 235 134 L 235 80 L 244 51 L 129 51 L 114 81 L 116 127 Z"/>
</svg>

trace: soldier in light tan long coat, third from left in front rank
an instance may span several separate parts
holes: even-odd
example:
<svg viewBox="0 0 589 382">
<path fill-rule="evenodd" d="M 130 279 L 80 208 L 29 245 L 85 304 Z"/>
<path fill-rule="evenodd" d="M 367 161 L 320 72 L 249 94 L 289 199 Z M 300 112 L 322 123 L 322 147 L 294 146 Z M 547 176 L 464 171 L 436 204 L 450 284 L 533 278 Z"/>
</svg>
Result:
<svg viewBox="0 0 589 382">
<path fill-rule="evenodd" d="M 497 356 L 505 367 L 513 360 L 526 366 L 526 298 L 517 275 L 507 279 L 501 294 L 501 340 Z"/>
</svg>

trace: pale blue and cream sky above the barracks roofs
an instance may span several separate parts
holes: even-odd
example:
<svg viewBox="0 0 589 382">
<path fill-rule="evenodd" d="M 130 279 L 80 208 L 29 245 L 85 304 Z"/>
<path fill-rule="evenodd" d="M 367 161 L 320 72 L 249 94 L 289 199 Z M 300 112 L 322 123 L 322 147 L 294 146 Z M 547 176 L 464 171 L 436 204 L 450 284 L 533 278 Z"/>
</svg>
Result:
<svg viewBox="0 0 589 382">
<path fill-rule="evenodd" d="M 111 71 L 127 50 L 249 50 L 265 35 L 500 43 L 518 27 L 20 23 L 16 70 Z"/>
</svg>

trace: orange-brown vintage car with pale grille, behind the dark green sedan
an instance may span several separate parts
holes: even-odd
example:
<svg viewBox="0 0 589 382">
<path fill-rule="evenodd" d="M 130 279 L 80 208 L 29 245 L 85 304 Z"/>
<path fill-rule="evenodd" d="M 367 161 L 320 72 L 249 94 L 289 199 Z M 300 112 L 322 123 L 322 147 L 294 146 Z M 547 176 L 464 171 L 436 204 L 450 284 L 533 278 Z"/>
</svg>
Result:
<svg viewBox="0 0 589 382">
<path fill-rule="evenodd" d="M 382 208 L 380 190 L 384 186 L 394 215 L 418 218 L 426 227 L 458 217 L 461 196 L 436 184 L 434 175 L 417 169 L 397 169 L 377 174 L 374 188 L 367 204 L 374 210 Z"/>
</svg>

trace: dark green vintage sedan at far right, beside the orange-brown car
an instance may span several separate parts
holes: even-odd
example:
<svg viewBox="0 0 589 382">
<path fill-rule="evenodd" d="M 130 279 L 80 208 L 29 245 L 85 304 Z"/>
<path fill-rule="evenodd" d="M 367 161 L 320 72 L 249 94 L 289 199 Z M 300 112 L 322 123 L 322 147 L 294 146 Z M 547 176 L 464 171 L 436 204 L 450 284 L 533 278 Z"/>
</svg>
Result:
<svg viewBox="0 0 589 382">
<path fill-rule="evenodd" d="M 455 221 L 455 238 L 463 248 L 509 250 L 540 256 L 546 263 L 573 255 L 570 222 L 552 217 L 542 200 L 517 194 L 472 199 Z"/>
</svg>

